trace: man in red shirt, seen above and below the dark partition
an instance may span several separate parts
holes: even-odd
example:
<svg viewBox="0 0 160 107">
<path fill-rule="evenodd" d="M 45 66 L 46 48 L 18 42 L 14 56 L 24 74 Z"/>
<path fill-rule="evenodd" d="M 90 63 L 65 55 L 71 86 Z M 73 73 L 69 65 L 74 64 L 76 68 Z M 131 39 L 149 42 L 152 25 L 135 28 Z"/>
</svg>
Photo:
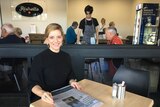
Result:
<svg viewBox="0 0 160 107">
<path fill-rule="evenodd" d="M 107 39 L 108 44 L 114 44 L 114 45 L 122 45 L 122 40 L 117 36 L 116 29 L 114 27 L 108 27 L 105 29 L 105 35 Z M 114 76 L 116 70 L 119 68 L 119 66 L 123 63 L 122 58 L 112 58 L 107 59 L 109 64 L 109 73 L 111 76 Z"/>
</svg>

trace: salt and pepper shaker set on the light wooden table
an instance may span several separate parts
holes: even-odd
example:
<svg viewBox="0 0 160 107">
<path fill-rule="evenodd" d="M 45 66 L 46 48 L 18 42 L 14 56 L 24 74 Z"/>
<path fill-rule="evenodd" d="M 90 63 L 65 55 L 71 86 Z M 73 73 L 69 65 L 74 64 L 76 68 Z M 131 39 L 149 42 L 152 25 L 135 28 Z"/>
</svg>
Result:
<svg viewBox="0 0 160 107">
<path fill-rule="evenodd" d="M 124 81 L 122 81 L 122 84 L 116 84 L 116 83 L 113 84 L 112 87 L 113 98 L 124 99 L 125 92 L 126 92 L 126 86 Z"/>
</svg>

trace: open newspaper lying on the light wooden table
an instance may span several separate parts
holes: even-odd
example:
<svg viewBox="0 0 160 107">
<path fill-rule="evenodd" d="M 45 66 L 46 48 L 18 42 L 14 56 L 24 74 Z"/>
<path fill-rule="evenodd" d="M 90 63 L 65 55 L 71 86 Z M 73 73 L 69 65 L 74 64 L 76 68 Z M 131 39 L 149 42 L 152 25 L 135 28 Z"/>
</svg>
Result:
<svg viewBox="0 0 160 107">
<path fill-rule="evenodd" d="M 70 85 L 51 92 L 56 107 L 100 107 L 103 103 Z"/>
</svg>

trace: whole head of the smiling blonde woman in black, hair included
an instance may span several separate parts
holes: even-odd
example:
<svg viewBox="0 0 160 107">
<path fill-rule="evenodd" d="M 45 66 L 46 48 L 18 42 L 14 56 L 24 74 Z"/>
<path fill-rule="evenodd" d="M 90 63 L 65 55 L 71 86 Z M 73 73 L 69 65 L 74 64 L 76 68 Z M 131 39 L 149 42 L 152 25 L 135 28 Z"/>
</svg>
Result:
<svg viewBox="0 0 160 107">
<path fill-rule="evenodd" d="M 45 29 L 45 39 L 49 49 L 58 53 L 63 44 L 64 33 L 61 25 L 57 23 L 49 24 Z"/>
</svg>

